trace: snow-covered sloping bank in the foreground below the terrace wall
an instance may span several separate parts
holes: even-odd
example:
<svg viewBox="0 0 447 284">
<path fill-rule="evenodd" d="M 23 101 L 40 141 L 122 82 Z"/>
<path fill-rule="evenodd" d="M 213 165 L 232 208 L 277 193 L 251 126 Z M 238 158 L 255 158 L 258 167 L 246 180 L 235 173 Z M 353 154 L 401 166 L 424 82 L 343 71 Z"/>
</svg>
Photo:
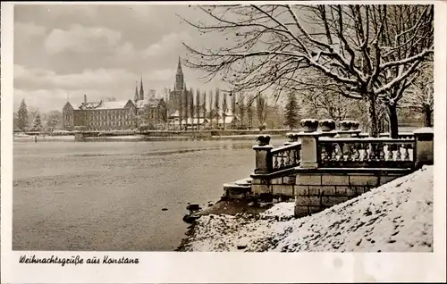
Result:
<svg viewBox="0 0 447 284">
<path fill-rule="evenodd" d="M 202 216 L 181 251 L 433 251 L 433 166 L 321 213 L 294 219 L 293 203 L 259 215 Z"/>
</svg>

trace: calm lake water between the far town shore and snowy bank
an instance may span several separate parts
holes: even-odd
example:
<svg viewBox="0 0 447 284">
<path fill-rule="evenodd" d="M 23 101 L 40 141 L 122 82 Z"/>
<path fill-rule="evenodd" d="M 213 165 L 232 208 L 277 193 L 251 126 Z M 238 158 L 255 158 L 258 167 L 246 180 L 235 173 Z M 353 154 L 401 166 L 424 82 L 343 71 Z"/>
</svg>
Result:
<svg viewBox="0 0 447 284">
<path fill-rule="evenodd" d="M 188 203 L 248 178 L 254 144 L 15 142 L 13 250 L 173 251 Z"/>
</svg>

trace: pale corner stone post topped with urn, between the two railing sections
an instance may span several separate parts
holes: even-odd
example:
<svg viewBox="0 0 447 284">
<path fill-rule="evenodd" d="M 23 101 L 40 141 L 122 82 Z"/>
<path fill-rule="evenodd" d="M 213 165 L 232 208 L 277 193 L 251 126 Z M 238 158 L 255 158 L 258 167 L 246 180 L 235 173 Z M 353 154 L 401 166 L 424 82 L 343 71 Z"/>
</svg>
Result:
<svg viewBox="0 0 447 284">
<path fill-rule="evenodd" d="M 317 160 L 317 144 L 320 135 L 316 129 L 318 121 L 313 119 L 301 120 L 303 131 L 299 132 L 301 140 L 301 168 L 316 169 L 318 168 Z"/>
</svg>

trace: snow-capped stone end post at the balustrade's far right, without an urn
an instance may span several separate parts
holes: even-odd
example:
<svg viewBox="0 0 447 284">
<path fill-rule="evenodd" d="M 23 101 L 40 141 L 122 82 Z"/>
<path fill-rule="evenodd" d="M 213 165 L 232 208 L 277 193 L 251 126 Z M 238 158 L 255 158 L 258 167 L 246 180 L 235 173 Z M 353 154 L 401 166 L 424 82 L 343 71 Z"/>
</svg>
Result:
<svg viewBox="0 0 447 284">
<path fill-rule="evenodd" d="M 414 132 L 416 140 L 416 148 L 413 150 L 415 153 L 415 166 L 417 169 L 421 168 L 425 164 L 434 163 L 434 147 L 433 147 L 433 128 L 417 129 Z"/>
</svg>

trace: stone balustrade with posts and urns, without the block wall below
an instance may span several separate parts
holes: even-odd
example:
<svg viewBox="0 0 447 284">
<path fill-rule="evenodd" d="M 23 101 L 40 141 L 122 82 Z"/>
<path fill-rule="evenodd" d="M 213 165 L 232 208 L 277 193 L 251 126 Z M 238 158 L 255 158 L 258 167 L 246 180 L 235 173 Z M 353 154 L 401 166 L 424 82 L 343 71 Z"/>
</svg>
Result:
<svg viewBox="0 0 447 284">
<path fill-rule="evenodd" d="M 339 129 L 335 129 L 333 120 L 319 123 L 308 119 L 300 123 L 303 131 L 288 133 L 288 141 L 278 148 L 269 145 L 268 135 L 258 136 L 259 144 L 253 147 L 255 173 L 268 174 L 298 166 L 305 169 L 414 169 L 433 163 L 433 129 L 401 133 L 397 139 L 388 138 L 386 134 L 368 138 L 358 129 L 358 121 L 341 121 Z"/>
</svg>

